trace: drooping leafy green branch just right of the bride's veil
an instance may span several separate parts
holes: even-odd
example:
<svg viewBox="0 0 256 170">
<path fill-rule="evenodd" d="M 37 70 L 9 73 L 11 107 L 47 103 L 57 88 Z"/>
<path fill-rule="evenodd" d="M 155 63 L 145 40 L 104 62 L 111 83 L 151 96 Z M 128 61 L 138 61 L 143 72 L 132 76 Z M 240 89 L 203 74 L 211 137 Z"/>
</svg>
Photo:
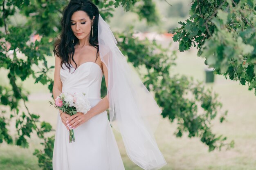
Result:
<svg viewBox="0 0 256 170">
<path fill-rule="evenodd" d="M 155 40 L 141 41 L 132 38 L 132 31 L 126 32 L 118 34 L 119 47 L 136 68 L 146 68 L 147 73 L 141 78 L 146 87 L 155 92 L 157 104 L 163 108 L 162 116 L 171 122 L 177 120 L 175 135 L 182 137 L 184 132 L 189 132 L 189 137 L 200 137 L 210 151 L 222 146 L 233 147 L 234 141 L 226 143 L 226 137 L 217 137 L 211 132 L 211 121 L 218 113 L 220 122 L 227 115 L 227 111 L 220 113 L 222 104 L 217 100 L 218 94 L 206 90 L 202 82 L 194 82 L 192 77 L 170 75 L 170 68 L 176 65 L 175 51 L 170 55 Z M 200 113 L 198 107 L 204 112 Z"/>
</svg>

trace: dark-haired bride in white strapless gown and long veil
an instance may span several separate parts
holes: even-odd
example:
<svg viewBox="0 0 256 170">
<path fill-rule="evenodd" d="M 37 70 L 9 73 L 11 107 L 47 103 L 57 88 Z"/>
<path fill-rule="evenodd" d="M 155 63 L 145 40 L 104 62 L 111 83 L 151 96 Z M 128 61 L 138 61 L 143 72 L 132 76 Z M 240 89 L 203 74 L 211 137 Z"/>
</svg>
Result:
<svg viewBox="0 0 256 170">
<path fill-rule="evenodd" d="M 128 66 L 116 46 L 109 25 L 89 0 L 71 0 L 61 19 L 62 33 L 56 41 L 54 99 L 62 93 L 83 92 L 92 108 L 70 116 L 58 110 L 53 170 L 124 170 L 110 121 L 121 132 L 128 157 L 145 170 L 166 164 L 146 118 L 161 110 Z M 108 94 L 101 99 L 105 76 Z M 68 142 L 74 129 L 76 141 Z"/>
</svg>

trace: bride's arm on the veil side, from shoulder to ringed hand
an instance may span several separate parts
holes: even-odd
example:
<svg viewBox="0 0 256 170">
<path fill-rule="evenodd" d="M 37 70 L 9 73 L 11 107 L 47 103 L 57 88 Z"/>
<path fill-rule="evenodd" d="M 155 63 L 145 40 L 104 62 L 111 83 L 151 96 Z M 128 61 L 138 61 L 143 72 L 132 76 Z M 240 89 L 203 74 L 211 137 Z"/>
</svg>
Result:
<svg viewBox="0 0 256 170">
<path fill-rule="evenodd" d="M 108 87 L 108 68 L 105 64 L 103 64 L 103 62 L 101 62 L 101 65 L 103 67 L 103 73 L 104 73 L 104 77 L 105 77 L 106 86 Z M 99 103 L 97 105 L 92 107 L 85 115 L 80 112 L 78 112 L 75 115 L 72 115 L 70 117 L 70 120 L 72 120 L 72 121 L 70 121 L 69 124 L 67 124 L 67 127 L 74 129 L 74 128 L 80 126 L 81 124 L 85 123 L 86 121 L 88 121 L 89 119 L 94 117 L 95 115 L 98 115 L 99 113 L 104 112 L 108 108 L 109 108 L 109 101 L 108 101 L 108 97 L 106 95 L 101 101 L 99 101 Z M 79 120 L 81 120 L 81 122 Z"/>
</svg>

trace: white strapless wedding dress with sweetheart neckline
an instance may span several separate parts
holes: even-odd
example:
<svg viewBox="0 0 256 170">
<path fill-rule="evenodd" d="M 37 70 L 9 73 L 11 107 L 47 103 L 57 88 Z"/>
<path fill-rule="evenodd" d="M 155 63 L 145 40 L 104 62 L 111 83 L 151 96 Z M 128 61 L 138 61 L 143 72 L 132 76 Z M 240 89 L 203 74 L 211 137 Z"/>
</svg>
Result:
<svg viewBox="0 0 256 170">
<path fill-rule="evenodd" d="M 92 107 L 97 105 L 101 100 L 103 76 L 100 66 L 85 62 L 76 71 L 71 67 L 69 72 L 65 64 L 63 68 L 60 71 L 62 92 L 83 92 Z M 72 143 L 69 143 L 69 131 L 62 123 L 59 112 L 57 115 L 53 170 L 124 170 L 107 111 L 75 128 L 75 142 Z"/>
</svg>

